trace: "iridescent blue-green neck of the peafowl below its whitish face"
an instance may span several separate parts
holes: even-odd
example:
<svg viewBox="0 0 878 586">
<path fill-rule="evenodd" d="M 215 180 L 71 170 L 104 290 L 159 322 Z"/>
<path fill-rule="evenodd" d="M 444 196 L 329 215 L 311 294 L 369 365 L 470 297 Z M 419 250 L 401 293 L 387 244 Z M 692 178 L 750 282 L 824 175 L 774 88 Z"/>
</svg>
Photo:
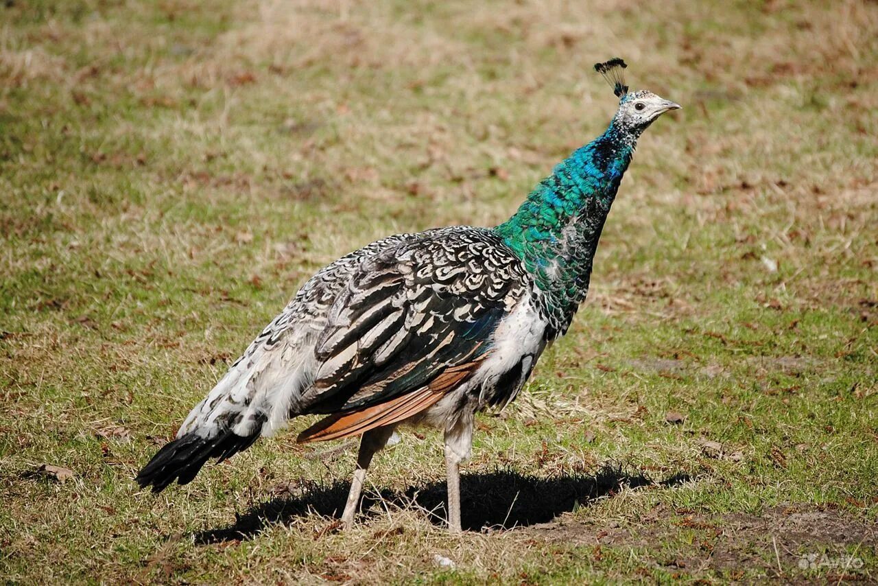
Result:
<svg viewBox="0 0 878 586">
<path fill-rule="evenodd" d="M 541 181 L 509 220 L 494 228 L 546 293 L 563 334 L 585 299 L 604 221 L 634 153 L 637 135 L 614 122 Z"/>
</svg>

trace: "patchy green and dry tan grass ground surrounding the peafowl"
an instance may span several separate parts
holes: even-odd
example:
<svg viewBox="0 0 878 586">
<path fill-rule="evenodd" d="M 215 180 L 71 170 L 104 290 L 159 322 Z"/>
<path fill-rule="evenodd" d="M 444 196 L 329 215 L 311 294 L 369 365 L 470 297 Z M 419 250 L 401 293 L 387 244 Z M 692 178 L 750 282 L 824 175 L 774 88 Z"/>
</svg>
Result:
<svg viewBox="0 0 878 586">
<path fill-rule="evenodd" d="M 0 13 L 4 580 L 878 578 L 874 3 Z M 350 441 L 135 489 L 313 271 L 498 223 L 599 134 L 615 54 L 684 110 L 640 141 L 571 332 L 479 418 L 470 532 L 441 527 L 434 432 L 378 456 L 350 532 Z"/>
</svg>

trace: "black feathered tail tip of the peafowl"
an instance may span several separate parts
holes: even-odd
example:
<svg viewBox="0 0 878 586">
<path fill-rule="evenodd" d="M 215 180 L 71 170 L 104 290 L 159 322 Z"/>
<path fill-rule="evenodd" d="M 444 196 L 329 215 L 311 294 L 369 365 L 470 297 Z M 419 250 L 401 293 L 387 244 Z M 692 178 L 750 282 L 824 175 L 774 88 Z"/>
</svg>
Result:
<svg viewBox="0 0 878 586">
<path fill-rule="evenodd" d="M 140 470 L 134 479 L 140 488 L 153 487 L 153 492 L 162 492 L 171 482 L 187 484 L 195 478 L 198 470 L 208 459 L 219 458 L 219 462 L 253 445 L 260 436 L 260 430 L 249 436 L 239 436 L 233 430 L 225 430 L 215 438 L 202 438 L 190 432 L 162 447 Z"/>
</svg>

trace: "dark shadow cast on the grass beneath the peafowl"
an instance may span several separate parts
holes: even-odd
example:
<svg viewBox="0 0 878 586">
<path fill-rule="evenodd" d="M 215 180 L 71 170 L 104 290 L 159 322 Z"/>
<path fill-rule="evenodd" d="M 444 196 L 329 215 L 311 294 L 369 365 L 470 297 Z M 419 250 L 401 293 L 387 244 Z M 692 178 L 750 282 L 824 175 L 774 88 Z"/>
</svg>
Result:
<svg viewBox="0 0 878 586">
<path fill-rule="evenodd" d="M 629 473 L 621 467 L 603 467 L 593 476 L 558 474 L 542 478 L 499 469 L 492 473 L 462 474 L 461 520 L 469 531 L 536 525 L 587 506 L 601 496 L 613 496 L 623 488 L 673 487 L 688 480 L 687 474 L 674 474 L 664 481 L 653 481 L 639 471 Z M 346 481 L 329 485 L 314 482 L 302 496 L 281 496 L 256 505 L 238 517 L 234 525 L 196 533 L 195 541 L 208 544 L 249 539 L 267 525 L 287 523 L 310 513 L 339 518 L 348 488 Z M 416 507 L 426 511 L 434 525 L 444 526 L 446 496 L 444 481 L 414 486 L 405 492 L 385 489 L 378 495 L 364 491 L 360 510 L 370 514 L 385 507 Z"/>
</svg>

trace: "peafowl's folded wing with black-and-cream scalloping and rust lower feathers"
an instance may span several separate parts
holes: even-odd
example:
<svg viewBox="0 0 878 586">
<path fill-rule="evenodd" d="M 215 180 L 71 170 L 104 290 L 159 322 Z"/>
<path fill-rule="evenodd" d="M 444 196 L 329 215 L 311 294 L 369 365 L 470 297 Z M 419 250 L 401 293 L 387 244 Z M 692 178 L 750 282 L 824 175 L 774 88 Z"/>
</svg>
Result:
<svg viewBox="0 0 878 586">
<path fill-rule="evenodd" d="M 522 264 L 480 230 L 427 234 L 361 264 L 335 300 L 305 412 L 399 421 L 457 387 L 491 351 L 494 329 L 525 294 Z"/>
</svg>

